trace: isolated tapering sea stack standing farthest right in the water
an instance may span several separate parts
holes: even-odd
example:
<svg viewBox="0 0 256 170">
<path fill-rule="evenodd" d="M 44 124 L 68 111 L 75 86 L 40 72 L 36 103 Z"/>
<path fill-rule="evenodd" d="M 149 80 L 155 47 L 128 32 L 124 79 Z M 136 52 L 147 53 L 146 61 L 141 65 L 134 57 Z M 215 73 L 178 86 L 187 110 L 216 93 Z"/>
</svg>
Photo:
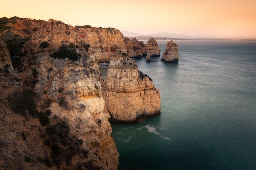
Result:
<svg viewBox="0 0 256 170">
<path fill-rule="evenodd" d="M 178 46 L 172 40 L 167 43 L 161 60 L 171 63 L 179 62 Z"/>
</svg>

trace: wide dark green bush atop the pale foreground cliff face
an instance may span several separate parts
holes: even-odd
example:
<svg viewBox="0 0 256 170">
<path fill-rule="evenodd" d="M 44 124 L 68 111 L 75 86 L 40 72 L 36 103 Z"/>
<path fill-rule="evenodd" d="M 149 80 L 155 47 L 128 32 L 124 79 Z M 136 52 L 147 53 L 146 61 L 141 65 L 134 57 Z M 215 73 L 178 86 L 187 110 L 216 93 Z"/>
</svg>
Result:
<svg viewBox="0 0 256 170">
<path fill-rule="evenodd" d="M 76 53 L 76 49 L 74 47 L 71 48 L 71 46 L 67 46 L 66 44 L 62 44 L 59 48 L 58 51 L 54 51 L 50 55 L 50 57 L 53 58 L 59 58 L 59 59 L 65 59 L 68 58 L 69 60 L 79 60 L 80 55 Z"/>
</svg>

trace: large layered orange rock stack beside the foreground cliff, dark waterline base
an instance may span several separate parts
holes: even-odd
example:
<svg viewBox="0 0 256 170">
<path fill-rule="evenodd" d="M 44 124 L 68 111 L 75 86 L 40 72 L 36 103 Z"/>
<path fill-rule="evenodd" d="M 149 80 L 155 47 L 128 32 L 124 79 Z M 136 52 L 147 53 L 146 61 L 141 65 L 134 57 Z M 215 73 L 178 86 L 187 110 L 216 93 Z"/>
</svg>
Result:
<svg viewBox="0 0 256 170">
<path fill-rule="evenodd" d="M 160 92 L 152 79 L 121 53 L 110 58 L 102 94 L 112 123 L 135 123 L 160 114 Z"/>
</svg>

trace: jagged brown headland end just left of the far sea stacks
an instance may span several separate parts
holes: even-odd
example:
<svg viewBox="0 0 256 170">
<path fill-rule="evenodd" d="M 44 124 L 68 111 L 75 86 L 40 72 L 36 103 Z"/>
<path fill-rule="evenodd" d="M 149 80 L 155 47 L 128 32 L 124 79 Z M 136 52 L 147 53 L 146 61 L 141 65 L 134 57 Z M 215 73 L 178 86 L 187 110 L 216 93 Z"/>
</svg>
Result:
<svg viewBox="0 0 256 170">
<path fill-rule="evenodd" d="M 129 57 L 142 57 L 142 47 L 145 46 L 143 42 L 139 42 L 136 38 L 132 38 L 132 40 L 130 40 L 129 38 L 124 37 L 124 43 L 126 45 L 127 55 Z"/>
</svg>

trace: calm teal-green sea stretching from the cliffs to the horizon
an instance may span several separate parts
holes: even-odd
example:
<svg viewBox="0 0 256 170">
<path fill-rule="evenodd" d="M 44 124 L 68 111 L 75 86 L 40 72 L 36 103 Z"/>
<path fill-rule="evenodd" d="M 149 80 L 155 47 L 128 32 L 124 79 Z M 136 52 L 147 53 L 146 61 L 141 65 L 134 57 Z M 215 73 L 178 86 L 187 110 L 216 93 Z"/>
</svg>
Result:
<svg viewBox="0 0 256 170">
<path fill-rule="evenodd" d="M 135 59 L 161 115 L 111 125 L 118 170 L 256 170 L 256 41 L 177 40 L 176 64 L 161 61 L 167 42 Z"/>
</svg>

